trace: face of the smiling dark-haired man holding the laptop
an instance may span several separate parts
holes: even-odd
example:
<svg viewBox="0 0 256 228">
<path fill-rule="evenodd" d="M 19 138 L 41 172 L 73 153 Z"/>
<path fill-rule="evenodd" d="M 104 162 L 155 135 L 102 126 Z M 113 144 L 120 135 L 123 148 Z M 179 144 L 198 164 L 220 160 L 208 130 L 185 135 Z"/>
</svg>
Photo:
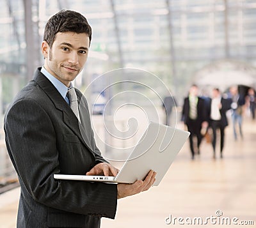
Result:
<svg viewBox="0 0 256 228">
<path fill-rule="evenodd" d="M 42 43 L 45 69 L 69 87 L 86 63 L 89 43 L 86 33 L 57 33 L 51 49 Z"/>
</svg>

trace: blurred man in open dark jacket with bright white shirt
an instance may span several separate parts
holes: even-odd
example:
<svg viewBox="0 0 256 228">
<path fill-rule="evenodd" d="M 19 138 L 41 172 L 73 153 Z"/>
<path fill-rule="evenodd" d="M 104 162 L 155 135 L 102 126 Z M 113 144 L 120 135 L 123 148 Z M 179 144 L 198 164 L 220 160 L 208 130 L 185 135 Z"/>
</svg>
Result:
<svg viewBox="0 0 256 228">
<path fill-rule="evenodd" d="M 220 89 L 212 89 L 212 98 L 209 105 L 209 126 L 212 128 L 213 158 L 216 158 L 216 131 L 220 129 L 220 157 L 223 158 L 225 127 L 228 126 L 226 112 L 231 102 L 221 96 Z"/>
</svg>

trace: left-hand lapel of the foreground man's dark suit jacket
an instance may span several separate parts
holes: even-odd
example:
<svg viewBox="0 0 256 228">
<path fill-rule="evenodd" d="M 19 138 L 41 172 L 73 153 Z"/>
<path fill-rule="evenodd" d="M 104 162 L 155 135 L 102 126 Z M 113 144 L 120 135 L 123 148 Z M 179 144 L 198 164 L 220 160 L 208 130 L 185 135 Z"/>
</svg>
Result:
<svg viewBox="0 0 256 228">
<path fill-rule="evenodd" d="M 54 87 L 53 84 L 47 79 L 47 77 L 45 77 L 40 72 L 40 68 L 36 70 L 34 80 L 43 89 L 43 91 L 50 98 L 52 103 L 54 103 L 56 109 L 59 109 L 61 110 L 61 112 L 63 112 L 63 122 L 77 135 L 77 137 L 79 137 L 80 141 L 83 142 L 83 144 L 93 153 L 92 146 L 90 144 L 90 141 L 88 140 L 84 127 L 80 125 L 78 119 L 76 118 L 76 115 L 74 114 L 72 109 L 70 109 L 67 102 L 65 102 L 63 97 L 60 95 L 56 87 Z"/>
</svg>

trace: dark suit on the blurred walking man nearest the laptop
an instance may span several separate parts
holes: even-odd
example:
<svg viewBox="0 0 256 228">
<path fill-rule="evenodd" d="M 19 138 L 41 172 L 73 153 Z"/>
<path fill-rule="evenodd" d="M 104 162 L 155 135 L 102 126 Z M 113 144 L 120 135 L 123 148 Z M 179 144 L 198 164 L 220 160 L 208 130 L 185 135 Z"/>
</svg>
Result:
<svg viewBox="0 0 256 228">
<path fill-rule="evenodd" d="M 182 121 L 188 126 L 188 131 L 191 133 L 189 135 L 189 145 L 191 150 L 192 158 L 195 155 L 195 149 L 198 153 L 200 153 L 200 144 L 203 139 L 201 134 L 202 130 L 202 123 L 206 120 L 206 109 L 205 109 L 205 102 L 204 99 L 200 97 L 196 97 L 196 118 L 191 119 L 190 112 L 191 112 L 191 105 L 189 103 L 189 97 L 184 99 L 184 105 L 182 109 Z M 197 142 L 194 145 L 193 138 L 196 137 Z"/>
</svg>

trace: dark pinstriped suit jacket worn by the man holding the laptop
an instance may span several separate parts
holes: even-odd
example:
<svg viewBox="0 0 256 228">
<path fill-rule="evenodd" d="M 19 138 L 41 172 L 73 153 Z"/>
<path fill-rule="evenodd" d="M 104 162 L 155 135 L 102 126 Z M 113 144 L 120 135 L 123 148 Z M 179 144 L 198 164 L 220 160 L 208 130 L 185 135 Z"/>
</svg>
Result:
<svg viewBox="0 0 256 228">
<path fill-rule="evenodd" d="M 76 93 L 81 125 L 38 68 L 6 112 L 6 146 L 21 191 L 17 227 L 94 228 L 101 217 L 115 218 L 116 185 L 53 178 L 85 174 L 106 162 L 95 145 L 86 100 Z"/>
</svg>

